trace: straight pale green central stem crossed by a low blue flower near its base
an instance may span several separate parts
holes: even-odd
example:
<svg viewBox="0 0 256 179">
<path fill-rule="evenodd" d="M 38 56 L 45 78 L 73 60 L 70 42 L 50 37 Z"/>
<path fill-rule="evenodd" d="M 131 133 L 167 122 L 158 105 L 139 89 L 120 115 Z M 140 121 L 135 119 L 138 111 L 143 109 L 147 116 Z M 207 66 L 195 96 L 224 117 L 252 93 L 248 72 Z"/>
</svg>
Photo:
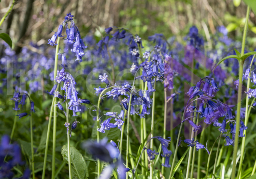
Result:
<svg viewBox="0 0 256 179">
<path fill-rule="evenodd" d="M 154 89 L 156 89 L 156 77 L 154 82 Z M 154 117 L 155 117 L 155 91 L 153 92 L 153 103 L 152 103 L 152 116 L 151 116 L 151 134 L 150 138 L 154 137 Z M 150 149 L 153 150 L 153 140 L 150 141 Z M 150 160 L 150 179 L 153 179 L 153 160 Z"/>
</svg>

